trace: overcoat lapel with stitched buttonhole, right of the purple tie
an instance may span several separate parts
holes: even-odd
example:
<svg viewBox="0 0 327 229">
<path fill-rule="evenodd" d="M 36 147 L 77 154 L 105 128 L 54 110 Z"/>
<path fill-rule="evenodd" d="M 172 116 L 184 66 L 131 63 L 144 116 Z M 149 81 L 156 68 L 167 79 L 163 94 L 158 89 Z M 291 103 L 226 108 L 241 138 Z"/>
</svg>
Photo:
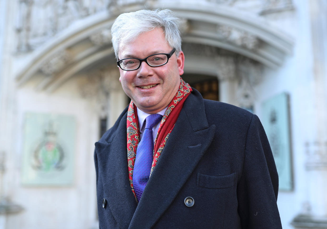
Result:
<svg viewBox="0 0 327 229">
<path fill-rule="evenodd" d="M 192 92 L 163 148 L 129 228 L 151 228 L 158 221 L 196 168 L 214 133 L 215 125 L 208 125 L 201 95 Z"/>
</svg>

